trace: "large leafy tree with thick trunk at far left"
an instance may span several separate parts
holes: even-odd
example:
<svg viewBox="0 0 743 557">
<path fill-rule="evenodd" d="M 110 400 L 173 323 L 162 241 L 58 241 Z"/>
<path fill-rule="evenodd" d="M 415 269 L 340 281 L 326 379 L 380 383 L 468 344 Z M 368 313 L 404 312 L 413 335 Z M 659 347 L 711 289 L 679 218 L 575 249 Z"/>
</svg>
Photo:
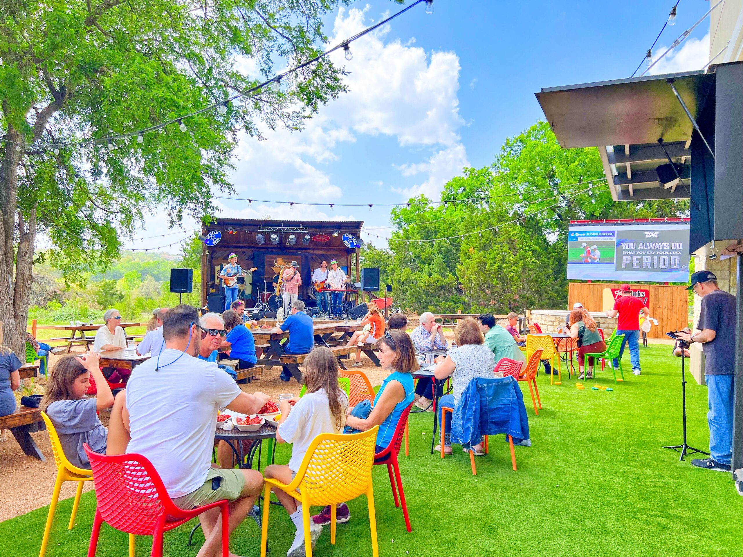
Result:
<svg viewBox="0 0 743 557">
<path fill-rule="evenodd" d="M 341 0 L 343 1 L 343 0 Z M 0 321 L 22 348 L 33 245 L 44 232 L 68 281 L 106 267 L 147 212 L 169 224 L 215 211 L 212 187 L 236 132 L 301 128 L 344 91 L 343 69 L 308 65 L 222 111 L 183 114 L 256 85 L 259 74 L 317 55 L 339 0 L 10 0 L 0 4 Z M 108 143 L 105 137 L 152 128 Z M 67 147 L 68 144 L 78 147 Z M 54 150 L 55 145 L 62 148 Z"/>
</svg>

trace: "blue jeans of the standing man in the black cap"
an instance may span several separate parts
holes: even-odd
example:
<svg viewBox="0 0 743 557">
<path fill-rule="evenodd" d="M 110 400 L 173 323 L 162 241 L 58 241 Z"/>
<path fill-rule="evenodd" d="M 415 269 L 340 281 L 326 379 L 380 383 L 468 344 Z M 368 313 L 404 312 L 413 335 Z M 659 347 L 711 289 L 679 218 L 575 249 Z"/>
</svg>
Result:
<svg viewBox="0 0 743 557">
<path fill-rule="evenodd" d="M 733 390 L 735 377 L 730 375 L 705 375 L 710 411 L 710 456 L 718 463 L 730 464 L 733 456 Z"/>
</svg>

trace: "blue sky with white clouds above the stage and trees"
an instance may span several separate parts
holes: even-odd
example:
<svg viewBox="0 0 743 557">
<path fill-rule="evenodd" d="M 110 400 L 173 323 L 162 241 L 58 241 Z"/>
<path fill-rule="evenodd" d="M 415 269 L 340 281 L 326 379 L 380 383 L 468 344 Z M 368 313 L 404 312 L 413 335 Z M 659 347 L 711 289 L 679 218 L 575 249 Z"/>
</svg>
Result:
<svg viewBox="0 0 743 557">
<path fill-rule="evenodd" d="M 423 5 L 415 7 L 354 42 L 350 62 L 338 53 L 334 62 L 351 72 L 351 91 L 322 107 L 304 131 L 266 130 L 261 142 L 241 138 L 232 175 L 238 196 L 328 204 L 399 203 L 418 193 L 438 198 L 464 166 L 492 163 L 506 137 L 542 117 L 534 97 L 540 87 L 629 77 L 672 5 L 435 0 L 432 15 Z M 355 2 L 328 14 L 326 34 L 337 44 L 399 9 L 387 0 Z M 676 25 L 666 27 L 655 56 L 709 9 L 710 1 L 682 0 Z M 709 59 L 709 27 L 706 19 L 652 73 L 701 69 Z M 331 211 L 235 200 L 218 205 L 221 215 L 231 217 L 357 219 L 370 229 L 389 226 L 389 208 L 383 207 Z M 138 235 L 167 232 L 172 231 L 161 215 L 152 215 Z M 389 229 L 377 232 L 386 235 Z M 159 247 L 179 239 L 168 235 L 136 244 Z"/>
</svg>

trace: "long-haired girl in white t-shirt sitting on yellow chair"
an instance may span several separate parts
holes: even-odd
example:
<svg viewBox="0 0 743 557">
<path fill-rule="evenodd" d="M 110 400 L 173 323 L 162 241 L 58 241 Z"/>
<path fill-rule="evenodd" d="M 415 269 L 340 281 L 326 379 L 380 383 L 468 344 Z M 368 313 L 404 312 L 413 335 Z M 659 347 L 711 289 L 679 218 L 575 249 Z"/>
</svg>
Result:
<svg viewBox="0 0 743 557">
<path fill-rule="evenodd" d="M 266 478 L 291 483 L 299 471 L 312 440 L 322 433 L 341 433 L 345 426 L 348 397 L 338 386 L 338 364 L 328 348 L 317 347 L 305 359 L 305 385 L 302 398 L 279 403 L 281 419 L 276 429 L 276 443 L 292 443 L 289 464 L 272 464 L 265 470 Z M 294 404 L 292 406 L 292 403 Z M 305 555 L 305 527 L 302 505 L 288 493 L 275 492 L 296 527 L 293 544 L 287 557 Z M 322 526 L 310 521 L 312 546 L 322 533 Z"/>
</svg>

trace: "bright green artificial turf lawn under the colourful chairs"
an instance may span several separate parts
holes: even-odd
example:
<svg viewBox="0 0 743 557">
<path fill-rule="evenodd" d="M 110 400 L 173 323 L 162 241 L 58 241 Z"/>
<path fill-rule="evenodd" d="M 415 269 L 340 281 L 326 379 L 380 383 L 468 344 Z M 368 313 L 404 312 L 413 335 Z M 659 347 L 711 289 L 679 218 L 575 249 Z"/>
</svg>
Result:
<svg viewBox="0 0 743 557">
<path fill-rule="evenodd" d="M 476 460 L 455 454 L 430 455 L 432 414 L 412 414 L 410 456 L 400 455 L 413 531 L 406 532 L 384 466 L 374 469 L 381 556 L 739 556 L 743 545 L 743 499 L 730 474 L 691 466 L 690 458 L 663 445 L 681 443 L 681 371 L 671 348 L 640 348 L 643 375 L 626 372 L 614 385 L 611 371 L 585 382 L 564 375 L 562 385 L 538 378 L 543 409 L 534 416 L 526 385 L 531 447 L 516 447 L 518 472 L 510 466 L 503 436 L 490 455 Z M 629 354 L 624 356 L 629 369 Z M 564 366 L 563 366 L 564 367 Z M 564 371 L 564 370 L 563 370 Z M 706 449 L 707 388 L 690 375 L 687 385 L 689 443 Z M 594 384 L 612 392 L 592 391 Z M 288 461 L 288 447 L 276 451 Z M 33 478 L 19 478 L 33 481 Z M 51 494 L 50 494 L 51 495 Z M 83 496 L 77 527 L 65 530 L 71 499 L 62 502 L 48 557 L 82 556 L 87 549 L 94 495 Z M 337 527 L 337 543 L 325 529 L 316 556 L 371 556 L 366 498 L 349 503 L 352 520 Z M 36 557 L 47 508 L 0 524 L 0 555 Z M 186 547 L 190 527 L 165 536 L 165 555 L 195 556 Z M 270 554 L 283 556 L 293 527 L 286 513 L 271 507 Z M 201 543 L 198 533 L 195 539 Z M 230 549 L 259 554 L 260 532 L 252 520 L 233 534 Z M 137 556 L 149 555 L 151 538 L 137 539 Z M 99 556 L 126 556 L 126 535 L 104 526 Z"/>
</svg>

